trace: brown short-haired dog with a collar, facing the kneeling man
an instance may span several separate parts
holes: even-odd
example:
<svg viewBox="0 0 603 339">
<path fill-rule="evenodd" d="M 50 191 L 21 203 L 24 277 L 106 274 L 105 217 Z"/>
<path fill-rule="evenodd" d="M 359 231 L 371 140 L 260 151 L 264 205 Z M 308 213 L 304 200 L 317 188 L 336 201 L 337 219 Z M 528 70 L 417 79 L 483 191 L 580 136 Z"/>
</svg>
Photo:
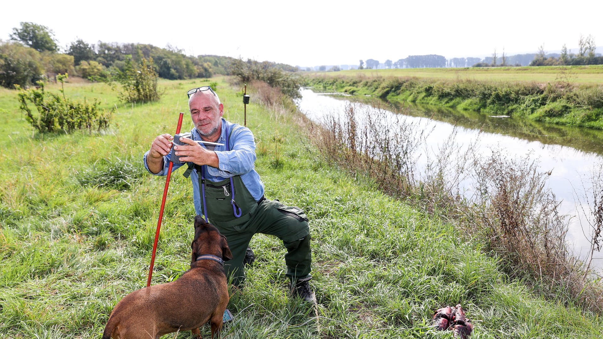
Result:
<svg viewBox="0 0 603 339">
<path fill-rule="evenodd" d="M 191 244 L 191 269 L 168 284 L 134 291 L 111 312 L 103 339 L 158 339 L 176 331 L 212 324 L 212 338 L 219 338 L 222 316 L 229 301 L 224 260 L 232 259 L 226 237 L 200 215 L 195 217 Z"/>
</svg>

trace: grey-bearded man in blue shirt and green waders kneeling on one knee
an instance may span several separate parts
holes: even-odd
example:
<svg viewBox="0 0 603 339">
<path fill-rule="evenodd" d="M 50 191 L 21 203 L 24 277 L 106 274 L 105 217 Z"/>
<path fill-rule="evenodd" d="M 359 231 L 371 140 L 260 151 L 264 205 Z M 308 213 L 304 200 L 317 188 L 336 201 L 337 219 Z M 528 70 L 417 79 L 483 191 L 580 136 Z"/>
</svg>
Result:
<svg viewBox="0 0 603 339">
<path fill-rule="evenodd" d="M 309 286 L 310 229 L 301 209 L 264 197 L 264 183 L 254 169 L 253 133 L 247 127 L 222 118 L 224 106 L 209 86 L 188 91 L 189 109 L 195 128 L 186 145 L 175 145 L 175 155 L 188 164 L 193 201 L 198 215 L 204 215 L 226 236 L 233 259 L 224 264 L 233 284 L 245 279 L 244 264 L 254 260 L 249 246 L 255 233 L 276 235 L 287 249 L 286 276 L 291 293 L 307 302 L 316 297 Z M 167 175 L 173 136 L 157 136 L 144 155 L 145 168 L 157 176 Z M 213 142 L 215 144 L 199 143 Z M 182 163 L 174 163 L 174 170 Z"/>
</svg>

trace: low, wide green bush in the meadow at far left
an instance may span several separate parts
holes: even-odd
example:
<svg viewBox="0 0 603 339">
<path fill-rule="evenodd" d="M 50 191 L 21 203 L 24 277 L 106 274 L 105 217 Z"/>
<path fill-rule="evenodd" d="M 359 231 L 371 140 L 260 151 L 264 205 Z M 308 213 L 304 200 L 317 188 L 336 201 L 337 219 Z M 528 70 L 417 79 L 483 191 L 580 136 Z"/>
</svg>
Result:
<svg viewBox="0 0 603 339">
<path fill-rule="evenodd" d="M 63 84 L 66 77 L 67 74 L 59 74 L 57 80 Z M 109 127 L 115 109 L 101 110 L 97 100 L 93 103 L 88 103 L 86 99 L 83 102 L 72 101 L 65 97 L 63 88 L 60 89 L 62 95 L 58 95 L 46 92 L 43 81 L 38 81 L 37 84 L 36 88 L 21 90 L 18 96 L 25 119 L 39 133 L 64 131 L 69 134 L 74 130 L 83 129 L 92 133 L 92 128 L 100 131 Z M 21 89 L 18 85 L 15 87 Z M 32 112 L 28 103 L 36 107 L 37 114 Z"/>
</svg>

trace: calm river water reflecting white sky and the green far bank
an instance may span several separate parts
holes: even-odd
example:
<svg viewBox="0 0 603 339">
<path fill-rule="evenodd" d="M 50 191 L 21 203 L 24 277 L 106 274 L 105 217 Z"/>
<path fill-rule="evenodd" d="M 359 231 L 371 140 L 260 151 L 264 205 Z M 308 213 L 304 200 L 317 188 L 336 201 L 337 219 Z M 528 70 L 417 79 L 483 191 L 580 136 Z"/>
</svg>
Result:
<svg viewBox="0 0 603 339">
<path fill-rule="evenodd" d="M 324 122 L 327 116 L 343 118 L 350 102 L 355 105 L 356 112 L 364 112 L 371 107 L 364 97 L 315 93 L 310 89 L 302 89 L 301 95 L 302 98 L 297 101 L 299 109 L 318 123 Z M 589 214 L 584 192 L 590 190 L 592 185 L 589 178 L 596 166 L 603 161 L 603 131 L 486 116 L 441 107 L 414 106 L 400 111 L 407 115 L 407 121 L 433 128 L 426 140 L 426 149 L 437 148 L 455 131 L 455 141 L 459 145 L 470 145 L 479 139 L 476 144 L 479 154 L 487 156 L 493 150 L 503 150 L 508 157 L 528 156 L 529 159 L 537 160 L 540 171 L 551 171 L 547 185 L 555 194 L 556 200 L 561 201 L 560 212 L 572 217 L 569 218 L 566 237 L 570 248 L 583 258 L 589 252 L 590 242 L 585 236 L 585 233 L 589 234 L 589 226 L 582 212 L 584 209 L 586 215 Z M 595 258 L 601 257 L 603 253 L 595 253 Z M 593 265 L 603 267 L 603 259 L 594 259 Z"/>
</svg>

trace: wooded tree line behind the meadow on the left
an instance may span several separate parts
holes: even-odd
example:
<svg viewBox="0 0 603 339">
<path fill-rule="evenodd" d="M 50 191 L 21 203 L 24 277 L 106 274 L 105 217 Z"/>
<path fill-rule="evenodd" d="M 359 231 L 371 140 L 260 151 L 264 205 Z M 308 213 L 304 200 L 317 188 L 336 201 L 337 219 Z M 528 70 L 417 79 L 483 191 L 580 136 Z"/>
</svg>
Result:
<svg viewBox="0 0 603 339">
<path fill-rule="evenodd" d="M 13 28 L 10 40 L 0 40 L 0 85 L 22 87 L 38 80 L 54 80 L 57 74 L 75 74 L 92 81 L 115 77 L 127 68 L 128 60 L 140 64 L 150 60 L 159 77 L 171 80 L 209 78 L 213 74 L 230 75 L 238 60 L 218 55 L 185 55 L 182 49 L 142 43 L 88 43 L 82 39 L 71 42 L 63 51 L 48 27 L 21 22 Z M 283 71 L 296 71 L 292 66 L 270 63 Z"/>
</svg>

